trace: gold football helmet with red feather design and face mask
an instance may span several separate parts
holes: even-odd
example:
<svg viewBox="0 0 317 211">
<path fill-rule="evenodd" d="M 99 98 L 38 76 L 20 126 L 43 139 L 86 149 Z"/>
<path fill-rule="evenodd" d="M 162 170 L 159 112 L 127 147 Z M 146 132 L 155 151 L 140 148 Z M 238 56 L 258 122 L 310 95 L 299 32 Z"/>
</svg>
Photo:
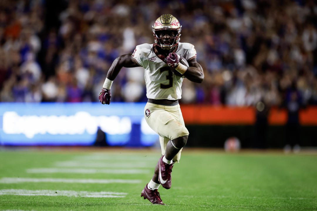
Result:
<svg viewBox="0 0 317 211">
<path fill-rule="evenodd" d="M 156 19 L 154 26 L 152 27 L 155 44 L 159 47 L 163 49 L 171 49 L 178 44 L 182 26 L 179 24 L 176 17 L 170 14 L 161 15 L 158 19 Z M 162 38 L 159 37 L 159 31 L 161 30 L 172 30 L 175 31 L 177 35 L 171 38 L 171 42 L 169 44 L 164 44 L 161 42 Z"/>
</svg>

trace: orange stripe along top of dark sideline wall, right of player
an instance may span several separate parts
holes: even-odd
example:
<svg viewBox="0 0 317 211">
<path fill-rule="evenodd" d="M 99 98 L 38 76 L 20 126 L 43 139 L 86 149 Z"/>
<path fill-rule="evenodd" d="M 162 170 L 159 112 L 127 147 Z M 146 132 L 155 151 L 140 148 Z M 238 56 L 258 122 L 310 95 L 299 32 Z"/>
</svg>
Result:
<svg viewBox="0 0 317 211">
<path fill-rule="evenodd" d="M 253 107 L 182 105 L 181 109 L 186 124 L 252 125 L 256 121 L 256 110 Z M 270 109 L 269 125 L 284 125 L 286 121 L 286 109 Z M 302 125 L 317 125 L 317 106 L 302 109 L 300 121 Z"/>
</svg>

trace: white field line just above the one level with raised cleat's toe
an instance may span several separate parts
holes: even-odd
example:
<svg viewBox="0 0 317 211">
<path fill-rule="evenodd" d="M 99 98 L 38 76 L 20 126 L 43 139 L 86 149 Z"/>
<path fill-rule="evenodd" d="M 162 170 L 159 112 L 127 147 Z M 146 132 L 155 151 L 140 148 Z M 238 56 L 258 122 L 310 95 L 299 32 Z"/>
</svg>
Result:
<svg viewBox="0 0 317 211">
<path fill-rule="evenodd" d="M 27 173 L 76 173 L 76 174 L 148 174 L 149 170 L 140 169 L 69 169 L 69 168 L 33 168 Z"/>
</svg>

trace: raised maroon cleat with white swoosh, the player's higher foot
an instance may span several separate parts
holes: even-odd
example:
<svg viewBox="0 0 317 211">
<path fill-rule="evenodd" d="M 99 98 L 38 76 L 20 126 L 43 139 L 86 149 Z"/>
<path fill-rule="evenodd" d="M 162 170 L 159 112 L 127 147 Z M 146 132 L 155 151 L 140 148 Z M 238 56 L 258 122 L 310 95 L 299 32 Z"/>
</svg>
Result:
<svg viewBox="0 0 317 211">
<path fill-rule="evenodd" d="M 171 173 L 174 163 L 166 164 L 163 162 L 164 155 L 159 159 L 159 183 L 165 189 L 170 189 L 172 185 Z"/>
</svg>

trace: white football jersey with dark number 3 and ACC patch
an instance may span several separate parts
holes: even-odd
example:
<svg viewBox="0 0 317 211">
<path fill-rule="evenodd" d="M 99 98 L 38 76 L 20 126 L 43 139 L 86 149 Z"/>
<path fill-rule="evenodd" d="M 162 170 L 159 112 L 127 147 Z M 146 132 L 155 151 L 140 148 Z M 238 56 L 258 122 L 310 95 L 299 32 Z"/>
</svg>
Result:
<svg viewBox="0 0 317 211">
<path fill-rule="evenodd" d="M 147 43 L 138 45 L 132 54 L 132 57 L 144 68 L 146 97 L 156 100 L 178 100 L 182 95 L 184 78 L 171 72 L 166 64 L 166 58 L 156 51 L 154 45 Z M 179 42 L 175 50 L 176 54 L 187 61 L 196 57 L 195 47 L 190 43 Z"/>
</svg>

